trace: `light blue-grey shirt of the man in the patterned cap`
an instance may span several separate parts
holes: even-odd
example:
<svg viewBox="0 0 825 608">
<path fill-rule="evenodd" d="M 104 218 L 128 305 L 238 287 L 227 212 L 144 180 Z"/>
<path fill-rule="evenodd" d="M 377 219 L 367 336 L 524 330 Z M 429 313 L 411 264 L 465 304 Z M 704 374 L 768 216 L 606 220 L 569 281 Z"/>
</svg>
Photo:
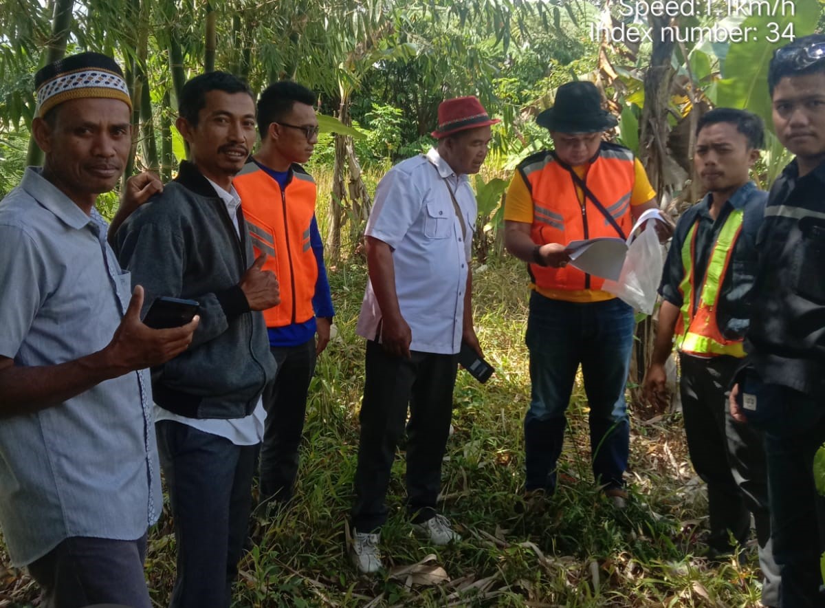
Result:
<svg viewBox="0 0 825 608">
<path fill-rule="evenodd" d="M 91 217 L 40 170 L 0 201 L 0 356 L 57 365 L 100 351 L 131 296 Z M 145 370 L 0 420 L 0 526 L 16 565 L 70 536 L 135 540 L 163 507 Z"/>
</svg>

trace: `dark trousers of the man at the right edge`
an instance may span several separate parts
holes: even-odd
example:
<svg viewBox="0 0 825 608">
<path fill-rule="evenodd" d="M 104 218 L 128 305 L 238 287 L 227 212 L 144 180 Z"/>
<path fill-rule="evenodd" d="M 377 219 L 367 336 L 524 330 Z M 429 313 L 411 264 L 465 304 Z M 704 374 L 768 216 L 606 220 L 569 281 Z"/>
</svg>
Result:
<svg viewBox="0 0 825 608">
<path fill-rule="evenodd" d="M 825 550 L 825 498 L 817 492 L 813 459 L 825 442 L 825 407 L 748 371 L 740 394 L 756 398 L 745 410 L 765 433 L 774 558 L 782 567 L 784 608 L 825 606 L 819 559 Z"/>
</svg>

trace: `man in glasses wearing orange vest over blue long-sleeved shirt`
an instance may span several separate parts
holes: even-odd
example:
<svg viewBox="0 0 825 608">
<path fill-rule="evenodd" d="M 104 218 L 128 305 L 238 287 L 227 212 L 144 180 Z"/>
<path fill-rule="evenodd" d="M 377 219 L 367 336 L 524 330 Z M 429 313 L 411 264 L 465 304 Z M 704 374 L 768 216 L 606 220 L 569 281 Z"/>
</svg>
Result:
<svg viewBox="0 0 825 608">
<path fill-rule="evenodd" d="M 264 311 L 278 375 L 263 395 L 261 497 L 273 505 L 292 497 L 309 381 L 334 314 L 315 219 L 315 181 L 300 165 L 318 143 L 314 102 L 314 92 L 296 82 L 267 87 L 257 104 L 261 149 L 234 181 L 252 245 L 268 254 L 264 268 L 281 285 L 281 304 Z"/>
</svg>

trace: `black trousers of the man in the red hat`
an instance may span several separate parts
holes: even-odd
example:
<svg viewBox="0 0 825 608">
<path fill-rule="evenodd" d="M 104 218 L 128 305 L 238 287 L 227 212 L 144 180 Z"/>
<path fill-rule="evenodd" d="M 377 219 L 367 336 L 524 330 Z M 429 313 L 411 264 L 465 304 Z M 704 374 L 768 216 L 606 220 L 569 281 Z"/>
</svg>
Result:
<svg viewBox="0 0 825 608">
<path fill-rule="evenodd" d="M 360 532 L 377 530 L 387 520 L 384 497 L 407 408 L 408 512 L 416 522 L 436 514 L 457 370 L 456 355 L 413 351 L 409 359 L 404 359 L 387 355 L 378 342 L 366 343 L 356 502 L 352 509 L 352 523 Z"/>
</svg>

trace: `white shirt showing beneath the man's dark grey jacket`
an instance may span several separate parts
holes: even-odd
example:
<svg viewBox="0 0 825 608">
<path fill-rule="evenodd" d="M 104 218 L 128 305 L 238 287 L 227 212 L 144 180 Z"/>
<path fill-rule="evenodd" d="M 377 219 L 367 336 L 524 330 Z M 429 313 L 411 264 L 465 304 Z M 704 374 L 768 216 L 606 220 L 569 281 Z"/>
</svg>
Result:
<svg viewBox="0 0 825 608">
<path fill-rule="evenodd" d="M 232 219 L 235 232 L 240 236 L 240 229 L 238 228 L 238 207 L 241 206 L 241 197 L 238 195 L 238 191 L 235 190 L 235 186 L 230 186 L 232 189 L 228 192 L 210 180 L 209 177 L 206 177 L 206 181 L 210 182 L 215 194 L 217 194 L 220 200 L 224 202 L 224 205 L 226 205 L 226 210 Z M 263 423 L 266 419 L 266 410 L 263 408 L 262 398 L 259 397 L 255 409 L 252 410 L 252 414 L 244 416 L 243 418 L 190 418 L 179 416 L 176 413 L 161 408 L 157 404 L 154 407 L 154 416 L 155 422 L 161 420 L 180 422 L 187 427 L 196 428 L 198 431 L 228 439 L 232 441 L 234 445 L 256 445 L 261 443 L 263 439 Z"/>
</svg>

